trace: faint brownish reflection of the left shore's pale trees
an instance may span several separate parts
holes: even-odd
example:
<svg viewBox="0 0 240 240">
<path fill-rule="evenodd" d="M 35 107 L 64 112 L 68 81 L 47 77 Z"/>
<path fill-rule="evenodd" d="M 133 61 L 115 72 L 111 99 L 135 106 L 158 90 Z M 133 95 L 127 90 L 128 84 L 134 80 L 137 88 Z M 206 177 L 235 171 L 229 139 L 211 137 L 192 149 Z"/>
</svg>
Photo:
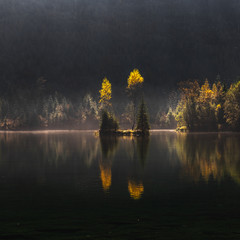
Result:
<svg viewBox="0 0 240 240">
<path fill-rule="evenodd" d="M 50 177 L 49 172 L 68 169 L 78 175 L 80 166 L 91 165 L 98 154 L 99 141 L 91 134 L 31 132 L 0 135 L 0 171 L 5 176 L 27 174 L 43 182 Z"/>
</svg>

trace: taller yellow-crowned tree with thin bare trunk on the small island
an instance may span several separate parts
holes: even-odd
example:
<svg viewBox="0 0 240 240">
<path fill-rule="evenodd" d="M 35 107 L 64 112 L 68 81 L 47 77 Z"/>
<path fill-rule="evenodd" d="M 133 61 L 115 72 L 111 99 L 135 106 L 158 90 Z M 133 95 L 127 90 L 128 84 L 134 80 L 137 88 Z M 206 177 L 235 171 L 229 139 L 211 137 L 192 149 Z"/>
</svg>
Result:
<svg viewBox="0 0 240 240">
<path fill-rule="evenodd" d="M 133 103 L 133 113 L 132 113 L 132 129 L 134 129 L 135 126 L 135 120 L 136 120 L 136 105 L 137 105 L 137 99 L 139 98 L 140 89 L 142 88 L 142 84 L 144 82 L 143 77 L 141 76 L 138 69 L 134 69 L 129 77 L 128 77 L 128 85 L 127 85 L 127 92 L 128 95 Z"/>
</svg>

